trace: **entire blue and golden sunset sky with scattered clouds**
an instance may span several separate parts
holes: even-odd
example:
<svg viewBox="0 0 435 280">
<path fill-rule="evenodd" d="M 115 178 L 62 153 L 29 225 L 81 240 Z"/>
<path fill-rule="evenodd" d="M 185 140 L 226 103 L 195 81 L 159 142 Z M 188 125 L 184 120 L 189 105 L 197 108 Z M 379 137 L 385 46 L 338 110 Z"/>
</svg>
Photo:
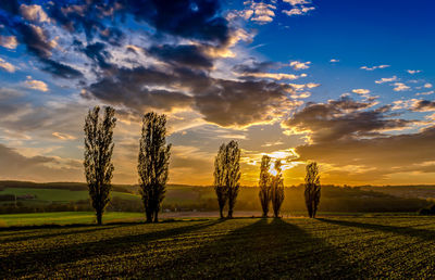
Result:
<svg viewBox="0 0 435 280">
<path fill-rule="evenodd" d="M 435 2 L 0 2 L 0 179 L 85 181 L 83 126 L 116 110 L 114 183 L 137 183 L 141 116 L 167 116 L 171 183 L 213 182 L 237 140 L 286 186 L 421 184 L 435 176 Z"/>
</svg>

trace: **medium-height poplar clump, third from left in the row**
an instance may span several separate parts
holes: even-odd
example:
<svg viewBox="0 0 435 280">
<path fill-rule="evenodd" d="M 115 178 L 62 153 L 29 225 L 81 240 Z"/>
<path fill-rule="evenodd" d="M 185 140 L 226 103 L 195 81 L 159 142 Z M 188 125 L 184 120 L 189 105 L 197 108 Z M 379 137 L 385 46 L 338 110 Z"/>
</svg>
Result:
<svg viewBox="0 0 435 280">
<path fill-rule="evenodd" d="M 214 160 L 214 190 L 217 196 L 221 218 L 228 201 L 228 218 L 233 218 L 234 206 L 239 190 L 240 149 L 236 141 L 222 144 Z"/>
</svg>

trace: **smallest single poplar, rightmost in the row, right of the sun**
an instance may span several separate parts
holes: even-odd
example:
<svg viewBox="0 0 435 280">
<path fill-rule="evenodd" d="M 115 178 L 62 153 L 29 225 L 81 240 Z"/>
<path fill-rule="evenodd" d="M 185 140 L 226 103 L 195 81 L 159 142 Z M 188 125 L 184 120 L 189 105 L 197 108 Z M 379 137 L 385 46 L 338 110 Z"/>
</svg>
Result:
<svg viewBox="0 0 435 280">
<path fill-rule="evenodd" d="M 320 175 L 318 164 L 310 163 L 307 165 L 307 176 L 306 176 L 306 205 L 308 211 L 308 216 L 310 218 L 315 218 L 318 212 L 318 206 L 320 203 Z"/>
</svg>

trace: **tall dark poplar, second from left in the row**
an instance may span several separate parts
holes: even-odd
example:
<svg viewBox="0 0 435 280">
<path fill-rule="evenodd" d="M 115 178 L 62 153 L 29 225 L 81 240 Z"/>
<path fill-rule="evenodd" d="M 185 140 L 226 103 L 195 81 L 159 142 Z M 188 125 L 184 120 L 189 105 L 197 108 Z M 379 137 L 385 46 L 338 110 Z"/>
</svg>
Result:
<svg viewBox="0 0 435 280">
<path fill-rule="evenodd" d="M 147 222 L 159 221 L 166 192 L 171 144 L 166 145 L 166 116 L 154 112 L 142 118 L 137 170 Z"/>
</svg>

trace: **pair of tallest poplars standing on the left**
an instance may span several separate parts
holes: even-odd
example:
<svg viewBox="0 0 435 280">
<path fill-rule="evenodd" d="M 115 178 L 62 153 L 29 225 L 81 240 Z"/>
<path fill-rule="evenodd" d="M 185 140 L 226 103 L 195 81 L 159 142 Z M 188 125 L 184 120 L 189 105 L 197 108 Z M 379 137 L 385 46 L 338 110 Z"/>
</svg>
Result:
<svg viewBox="0 0 435 280">
<path fill-rule="evenodd" d="M 110 201 L 114 166 L 113 129 L 116 124 L 113 107 L 89 110 L 85 119 L 85 176 L 98 225 Z M 166 117 L 147 113 L 142 117 L 137 170 L 147 222 L 157 222 L 167 181 L 171 144 L 166 144 Z"/>
</svg>

